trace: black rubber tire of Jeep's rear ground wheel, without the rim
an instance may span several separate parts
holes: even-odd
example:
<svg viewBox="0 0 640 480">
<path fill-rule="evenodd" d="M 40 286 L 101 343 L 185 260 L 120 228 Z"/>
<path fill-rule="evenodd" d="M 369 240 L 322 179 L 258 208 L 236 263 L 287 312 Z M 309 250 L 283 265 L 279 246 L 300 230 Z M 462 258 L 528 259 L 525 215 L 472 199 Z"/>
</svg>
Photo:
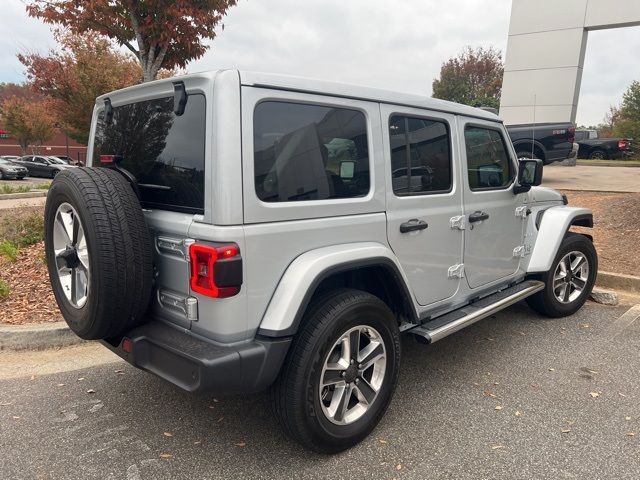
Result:
<svg viewBox="0 0 640 480">
<path fill-rule="evenodd" d="M 335 342 L 358 326 L 372 327 L 380 334 L 386 369 L 377 397 L 366 413 L 352 423 L 336 425 L 321 406 L 320 376 Z M 284 431 L 304 447 L 320 453 L 340 452 L 360 442 L 378 424 L 393 396 L 399 366 L 400 333 L 387 305 L 359 290 L 330 292 L 316 299 L 305 314 L 271 388 L 273 410 Z"/>
</svg>

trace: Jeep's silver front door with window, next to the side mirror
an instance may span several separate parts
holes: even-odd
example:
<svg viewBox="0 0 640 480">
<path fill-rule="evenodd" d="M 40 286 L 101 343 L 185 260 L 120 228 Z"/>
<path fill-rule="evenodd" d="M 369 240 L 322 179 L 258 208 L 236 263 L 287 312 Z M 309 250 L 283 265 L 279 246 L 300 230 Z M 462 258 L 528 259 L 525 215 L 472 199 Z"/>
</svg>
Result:
<svg viewBox="0 0 640 480">
<path fill-rule="evenodd" d="M 517 161 L 504 128 L 460 119 L 465 157 L 464 267 L 470 288 L 514 275 L 523 253 L 524 195 L 513 193 Z"/>
</svg>

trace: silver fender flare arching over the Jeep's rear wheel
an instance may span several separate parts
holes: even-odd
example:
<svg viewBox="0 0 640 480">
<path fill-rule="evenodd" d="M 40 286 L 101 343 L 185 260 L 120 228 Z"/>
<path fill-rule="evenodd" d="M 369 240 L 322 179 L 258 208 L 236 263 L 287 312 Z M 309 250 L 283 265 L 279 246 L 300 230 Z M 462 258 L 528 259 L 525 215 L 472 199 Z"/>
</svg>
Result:
<svg viewBox="0 0 640 480">
<path fill-rule="evenodd" d="M 287 268 L 262 317 L 258 335 L 294 335 L 320 283 L 329 276 L 356 268 L 381 266 L 401 287 L 417 318 L 417 306 L 400 264 L 387 246 L 374 242 L 349 243 L 318 248 L 303 253 Z"/>
</svg>

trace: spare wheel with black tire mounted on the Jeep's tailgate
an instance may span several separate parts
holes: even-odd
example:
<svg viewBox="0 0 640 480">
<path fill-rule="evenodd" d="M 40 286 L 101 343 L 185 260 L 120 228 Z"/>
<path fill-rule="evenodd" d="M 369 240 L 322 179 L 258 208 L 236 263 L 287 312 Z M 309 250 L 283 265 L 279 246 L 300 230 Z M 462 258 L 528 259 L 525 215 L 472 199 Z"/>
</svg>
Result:
<svg viewBox="0 0 640 480">
<path fill-rule="evenodd" d="M 127 180 L 107 168 L 64 170 L 51 184 L 44 220 L 51 286 L 69 328 L 95 340 L 139 325 L 151 296 L 153 250 Z"/>
</svg>

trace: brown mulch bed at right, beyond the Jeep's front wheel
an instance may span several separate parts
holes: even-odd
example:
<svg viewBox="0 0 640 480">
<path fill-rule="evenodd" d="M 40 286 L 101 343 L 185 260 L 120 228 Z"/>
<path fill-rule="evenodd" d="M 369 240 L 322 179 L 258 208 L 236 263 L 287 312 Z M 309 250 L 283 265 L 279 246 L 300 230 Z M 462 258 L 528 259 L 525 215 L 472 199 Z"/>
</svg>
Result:
<svg viewBox="0 0 640 480">
<path fill-rule="evenodd" d="M 593 235 L 599 270 L 640 275 L 640 193 L 565 191 L 569 205 L 593 210 Z"/>
</svg>

